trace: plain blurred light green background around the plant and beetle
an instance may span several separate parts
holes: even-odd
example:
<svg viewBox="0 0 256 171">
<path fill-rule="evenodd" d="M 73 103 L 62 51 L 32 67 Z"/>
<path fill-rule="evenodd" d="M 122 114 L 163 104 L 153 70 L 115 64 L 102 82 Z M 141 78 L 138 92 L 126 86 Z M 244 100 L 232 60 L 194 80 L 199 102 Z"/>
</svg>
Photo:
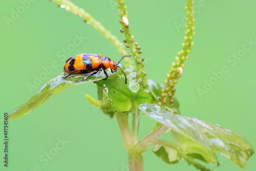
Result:
<svg viewBox="0 0 256 171">
<path fill-rule="evenodd" d="M 115 61 L 120 58 L 111 43 L 91 25 L 85 24 L 82 18 L 46 0 L 30 2 L 22 11 L 21 2 L 5 1 L 0 7 L 0 142 L 4 139 L 3 113 L 11 113 L 27 102 L 45 82 L 62 72 L 65 59 L 79 53 L 102 54 Z M 114 0 L 73 2 L 91 13 L 120 40 L 124 39 L 119 32 L 121 26 Z M 125 3 L 131 32 L 145 57 L 147 78 L 162 83 L 170 63 L 181 50 L 186 1 Z M 256 42 L 256 2 L 205 0 L 195 1 L 194 5 L 195 46 L 177 84 L 176 97 L 181 114 L 220 124 L 239 133 L 256 147 L 256 45 L 251 45 L 250 50 L 242 50 L 246 39 Z M 13 10 L 20 14 L 15 16 Z M 14 19 L 7 24 L 7 17 Z M 76 35 L 86 38 L 79 46 L 72 46 Z M 63 49 L 68 49 L 66 54 Z M 242 57 L 229 57 L 233 53 Z M 50 67 L 52 62 L 57 66 Z M 221 79 L 215 79 L 212 72 L 221 71 L 223 66 L 228 72 Z M 44 74 L 42 67 L 50 67 L 52 71 L 49 69 Z M 29 88 L 28 83 L 34 84 L 35 77 L 41 77 L 41 82 Z M 217 82 L 200 96 L 197 89 L 204 89 L 205 80 Z M 32 113 L 9 121 L 9 167 L 3 166 L 4 146 L 1 143 L 0 170 L 127 170 L 126 151 L 116 120 L 106 118 L 89 103 L 85 94 L 96 98 L 95 84 L 70 87 L 52 96 Z M 140 138 L 154 125 L 154 120 L 141 116 Z M 60 149 L 61 145 L 56 147 L 56 144 L 62 138 L 68 143 Z M 169 134 L 163 138 L 169 139 Z M 47 162 L 45 155 L 49 152 L 54 156 L 50 156 L 51 160 Z M 151 150 L 143 156 L 144 170 L 196 170 L 185 161 L 168 165 Z M 220 162 L 219 171 L 241 170 L 228 160 Z M 255 170 L 255 162 L 254 155 L 245 170 Z"/>
</svg>

